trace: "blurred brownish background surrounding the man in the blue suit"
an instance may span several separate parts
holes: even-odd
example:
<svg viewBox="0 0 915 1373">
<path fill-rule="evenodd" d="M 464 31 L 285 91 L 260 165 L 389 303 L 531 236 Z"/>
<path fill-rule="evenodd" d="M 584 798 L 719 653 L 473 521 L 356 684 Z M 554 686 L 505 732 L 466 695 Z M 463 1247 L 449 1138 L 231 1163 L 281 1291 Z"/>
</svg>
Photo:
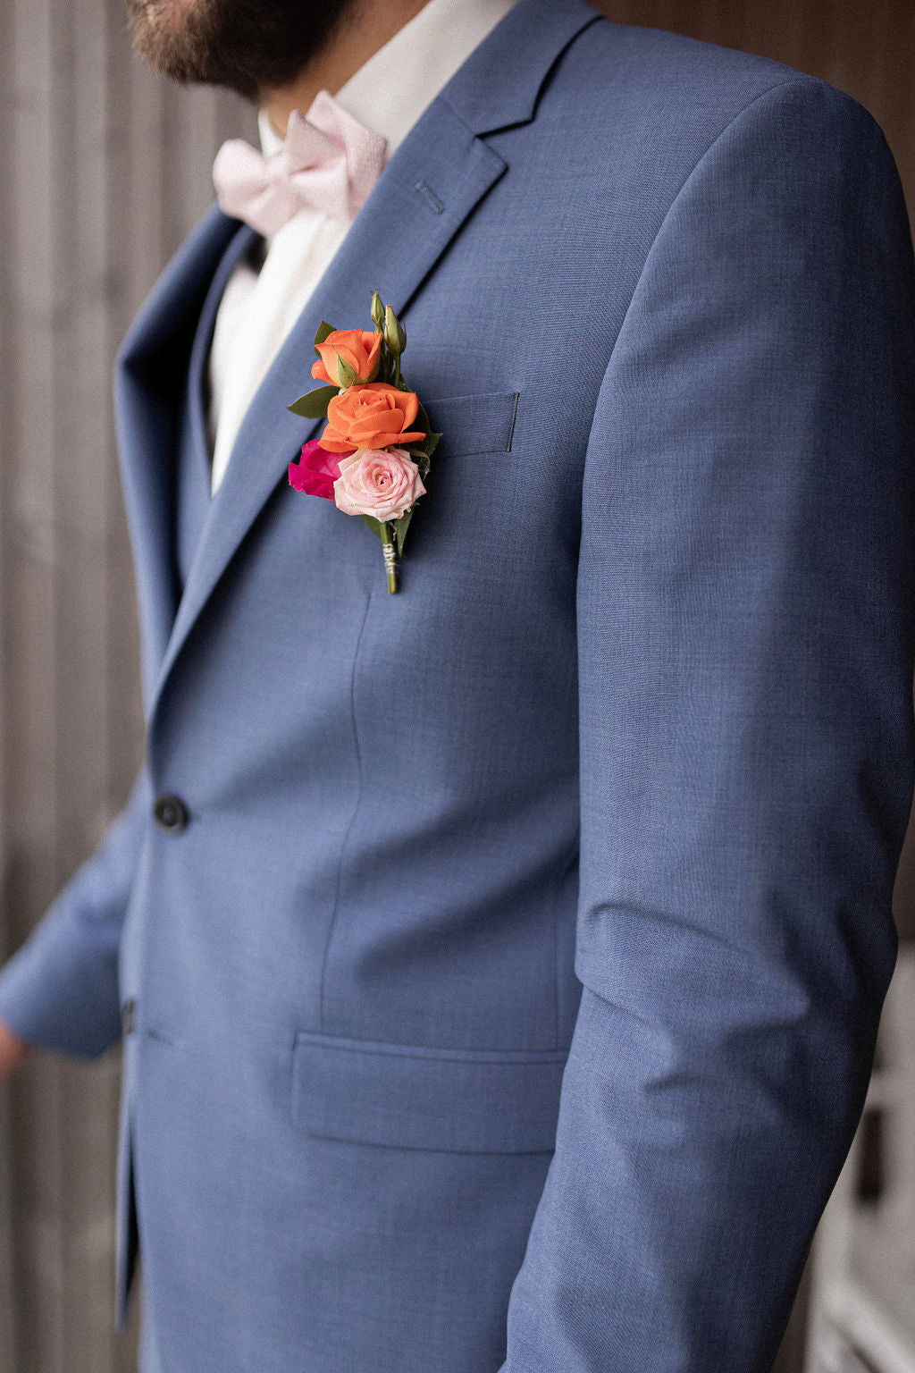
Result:
<svg viewBox="0 0 915 1373">
<path fill-rule="evenodd" d="M 912 0 L 602 7 L 851 92 L 883 126 L 915 210 Z M 151 77 L 122 0 L 0 0 L 0 958 L 95 847 L 140 759 L 110 372 L 233 135 L 255 137 L 252 111 Z M 871 1093 L 779 1373 L 915 1373 L 908 843 L 896 905 L 903 953 Z M 117 1054 L 36 1056 L 0 1093 L 0 1373 L 134 1368 L 134 1330 L 112 1330 L 117 1094 Z"/>
</svg>

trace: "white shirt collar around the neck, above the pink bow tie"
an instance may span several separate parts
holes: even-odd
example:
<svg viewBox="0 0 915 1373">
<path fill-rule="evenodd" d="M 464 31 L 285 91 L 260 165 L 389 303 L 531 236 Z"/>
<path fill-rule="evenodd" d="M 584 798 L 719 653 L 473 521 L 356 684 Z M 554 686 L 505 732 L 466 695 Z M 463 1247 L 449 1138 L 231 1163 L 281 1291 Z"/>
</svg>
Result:
<svg viewBox="0 0 915 1373">
<path fill-rule="evenodd" d="M 505 18 L 514 0 L 428 0 L 394 37 L 336 92 L 344 110 L 388 143 L 388 158 L 473 49 Z M 283 140 L 263 110 L 261 147 L 277 152 Z"/>
</svg>

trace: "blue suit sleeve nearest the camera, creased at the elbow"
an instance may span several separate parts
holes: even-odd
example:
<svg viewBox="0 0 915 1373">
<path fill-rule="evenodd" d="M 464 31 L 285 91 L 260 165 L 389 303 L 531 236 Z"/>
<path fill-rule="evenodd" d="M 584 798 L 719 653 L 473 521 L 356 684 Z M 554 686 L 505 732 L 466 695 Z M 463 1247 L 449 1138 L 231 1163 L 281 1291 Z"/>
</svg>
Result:
<svg viewBox="0 0 915 1373">
<path fill-rule="evenodd" d="M 671 206 L 594 417 L 583 994 L 503 1373 L 771 1368 L 896 953 L 914 346 L 882 135 L 789 80 Z"/>
</svg>

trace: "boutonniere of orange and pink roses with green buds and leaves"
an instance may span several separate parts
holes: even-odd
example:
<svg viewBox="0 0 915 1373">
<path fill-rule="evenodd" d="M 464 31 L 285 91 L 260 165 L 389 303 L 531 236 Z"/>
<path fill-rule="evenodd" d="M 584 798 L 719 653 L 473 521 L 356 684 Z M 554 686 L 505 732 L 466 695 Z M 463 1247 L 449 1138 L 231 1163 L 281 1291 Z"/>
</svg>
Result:
<svg viewBox="0 0 915 1373">
<path fill-rule="evenodd" d="M 365 520 L 381 540 L 388 590 L 395 592 L 396 560 L 442 435 L 432 432 L 420 398 L 403 380 L 406 334 L 377 291 L 372 323 L 375 331 L 321 324 L 314 335 L 318 361 L 311 376 L 325 384 L 288 409 L 328 423 L 289 463 L 289 485 Z"/>
</svg>

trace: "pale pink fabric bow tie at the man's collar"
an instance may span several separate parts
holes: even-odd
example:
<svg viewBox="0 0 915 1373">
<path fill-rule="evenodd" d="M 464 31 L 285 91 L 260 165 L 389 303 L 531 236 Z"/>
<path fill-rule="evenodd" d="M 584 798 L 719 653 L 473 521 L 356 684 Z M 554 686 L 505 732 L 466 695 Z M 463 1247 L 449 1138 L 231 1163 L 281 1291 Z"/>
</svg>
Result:
<svg viewBox="0 0 915 1373">
<path fill-rule="evenodd" d="M 285 143 L 265 158 L 243 139 L 224 143 L 213 163 L 219 207 L 270 238 L 310 205 L 348 224 L 384 166 L 387 140 L 320 91 L 306 115 L 294 110 Z"/>
</svg>

